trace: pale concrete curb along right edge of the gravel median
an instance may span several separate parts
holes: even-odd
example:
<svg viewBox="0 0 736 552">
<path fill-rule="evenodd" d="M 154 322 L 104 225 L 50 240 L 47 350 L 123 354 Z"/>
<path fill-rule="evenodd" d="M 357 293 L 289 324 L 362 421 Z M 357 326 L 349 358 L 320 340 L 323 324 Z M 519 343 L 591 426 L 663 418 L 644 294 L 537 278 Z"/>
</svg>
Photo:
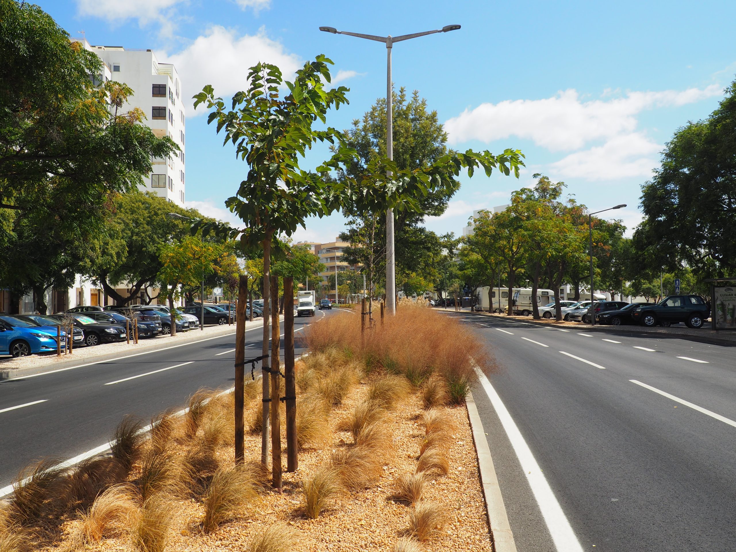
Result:
<svg viewBox="0 0 736 552">
<path fill-rule="evenodd" d="M 493 548 L 495 552 L 516 552 L 514 534 L 509 525 L 506 506 L 503 504 L 503 496 L 501 495 L 500 486 L 498 486 L 491 450 L 488 447 L 486 433 L 483 431 L 478 407 L 475 406 L 473 393 L 470 391 L 465 396 L 465 404 L 467 406 L 467 417 L 470 420 L 470 429 L 473 431 L 475 453 L 478 455 L 478 470 L 481 473 L 481 486 L 486 500 L 486 515 L 493 537 Z"/>
</svg>

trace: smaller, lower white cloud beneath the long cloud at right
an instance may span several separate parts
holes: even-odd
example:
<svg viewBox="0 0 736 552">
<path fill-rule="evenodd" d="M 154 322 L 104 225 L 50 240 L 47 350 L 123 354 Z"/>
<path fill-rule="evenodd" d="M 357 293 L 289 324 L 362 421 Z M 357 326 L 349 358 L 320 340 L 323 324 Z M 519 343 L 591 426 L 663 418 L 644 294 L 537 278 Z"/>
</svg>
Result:
<svg viewBox="0 0 736 552">
<path fill-rule="evenodd" d="M 642 132 L 622 134 L 581 152 L 575 152 L 550 165 L 550 171 L 562 178 L 616 180 L 626 177 L 651 177 L 659 164 L 657 152 L 663 146 Z"/>
</svg>

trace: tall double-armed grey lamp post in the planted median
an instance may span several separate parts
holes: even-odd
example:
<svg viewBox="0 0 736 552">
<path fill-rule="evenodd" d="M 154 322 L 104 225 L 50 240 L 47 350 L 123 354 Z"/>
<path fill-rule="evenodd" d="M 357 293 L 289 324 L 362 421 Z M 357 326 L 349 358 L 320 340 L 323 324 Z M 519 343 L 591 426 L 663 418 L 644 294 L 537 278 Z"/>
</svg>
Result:
<svg viewBox="0 0 736 552">
<path fill-rule="evenodd" d="M 376 40 L 386 44 L 386 157 L 394 159 L 394 128 L 391 94 L 391 50 L 394 42 L 418 38 L 425 35 L 434 35 L 436 32 L 450 32 L 459 29 L 459 25 L 445 25 L 442 29 L 434 31 L 415 32 L 411 35 L 400 35 L 397 37 L 362 35 L 358 32 L 339 31 L 333 26 L 321 26 L 320 31 L 331 32 L 333 35 L 350 35 L 367 40 Z M 389 179 L 391 171 L 386 172 Z M 396 314 L 396 263 L 394 259 L 394 210 L 386 210 L 386 308 L 390 314 Z"/>
</svg>

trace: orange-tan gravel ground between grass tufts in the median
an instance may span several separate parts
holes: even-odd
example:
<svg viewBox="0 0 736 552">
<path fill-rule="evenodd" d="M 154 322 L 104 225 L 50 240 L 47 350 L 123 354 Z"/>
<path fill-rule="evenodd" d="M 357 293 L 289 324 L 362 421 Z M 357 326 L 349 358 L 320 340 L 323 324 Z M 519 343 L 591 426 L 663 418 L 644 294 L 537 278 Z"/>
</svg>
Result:
<svg viewBox="0 0 736 552">
<path fill-rule="evenodd" d="M 362 383 L 333 411 L 330 419 L 333 429 L 352 411 L 367 392 Z M 251 403 L 251 408 L 260 401 Z M 447 452 L 450 473 L 435 478 L 428 485 L 425 500 L 439 503 L 447 514 L 442 532 L 425 542 L 426 551 L 492 551 L 489 528 L 486 523 L 484 498 L 478 478 L 478 463 L 473 437 L 464 406 L 446 409 L 456 425 L 456 434 Z M 394 452 L 391 461 L 383 467 L 383 476 L 376 484 L 359 492 L 351 492 L 336 507 L 324 512 L 318 519 L 302 515 L 300 483 L 302 478 L 328 460 L 332 450 L 350 442 L 347 432 L 333 431 L 333 441 L 321 450 L 300 453 L 297 473 L 283 474 L 283 493 L 266 492 L 261 501 L 252 504 L 239 519 L 209 535 L 199 531 L 202 504 L 199 500 L 178 500 L 174 529 L 167 551 L 241 551 L 254 534 L 277 520 L 289 523 L 299 532 L 294 552 L 317 551 L 390 551 L 394 542 L 406 534 L 410 509 L 391 500 L 394 479 L 404 472 L 413 472 L 417 465 L 424 429 L 420 423 L 422 407 L 417 397 L 392 412 L 389 425 L 393 434 Z M 285 442 L 285 436 L 282 436 Z M 260 459 L 261 439 L 246 436 L 246 460 Z M 285 445 L 284 445 L 285 446 Z M 232 461 L 232 447 L 219 450 L 222 459 Z M 286 450 L 283 453 L 286 464 Z M 66 523 L 67 529 L 74 522 Z M 100 545 L 86 548 L 94 551 L 130 550 L 126 539 L 107 539 Z M 60 548 L 46 548 L 58 551 Z"/>
</svg>

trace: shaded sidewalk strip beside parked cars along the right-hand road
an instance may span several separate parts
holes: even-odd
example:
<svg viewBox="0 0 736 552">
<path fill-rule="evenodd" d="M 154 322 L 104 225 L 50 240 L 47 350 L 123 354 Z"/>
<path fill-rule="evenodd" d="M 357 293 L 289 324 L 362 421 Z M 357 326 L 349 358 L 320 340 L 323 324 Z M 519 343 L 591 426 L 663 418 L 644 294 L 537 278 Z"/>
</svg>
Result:
<svg viewBox="0 0 736 552">
<path fill-rule="evenodd" d="M 440 308 L 439 310 L 444 310 Z M 447 312 L 456 312 L 453 309 L 448 308 Z M 595 325 L 584 324 L 582 322 L 565 322 L 561 320 L 557 322 L 555 319 L 539 319 L 535 320 L 531 316 L 506 316 L 506 314 L 488 313 L 488 312 L 475 312 L 475 311 L 457 311 L 461 314 L 472 314 L 476 316 L 495 316 L 498 319 L 504 320 L 516 320 L 519 322 L 526 322 L 527 324 L 534 325 L 548 325 L 553 328 L 577 328 L 578 330 L 584 331 L 604 331 L 612 333 L 648 333 L 657 334 L 656 337 L 684 337 L 692 339 L 693 341 L 718 344 L 718 345 L 734 345 L 736 346 L 736 331 L 721 330 L 715 331 L 710 329 L 710 322 L 703 325 L 702 328 L 696 330 L 693 328 L 687 328 L 686 325 L 673 325 L 669 328 L 647 328 L 646 326 L 640 325 L 626 325 L 626 326 L 611 326 L 611 325 Z M 652 336 L 655 337 L 655 336 Z"/>
</svg>

